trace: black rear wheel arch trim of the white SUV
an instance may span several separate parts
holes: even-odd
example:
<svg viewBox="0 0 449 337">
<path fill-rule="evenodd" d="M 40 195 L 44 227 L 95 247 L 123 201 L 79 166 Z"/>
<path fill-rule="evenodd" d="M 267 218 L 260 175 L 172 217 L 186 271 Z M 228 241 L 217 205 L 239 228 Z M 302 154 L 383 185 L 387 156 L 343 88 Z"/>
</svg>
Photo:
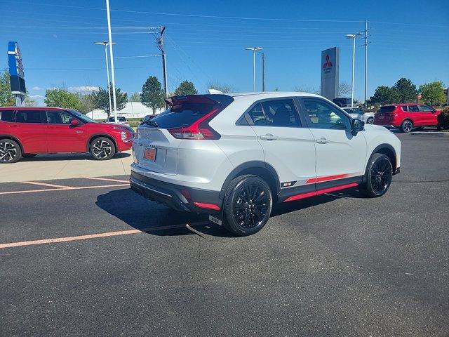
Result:
<svg viewBox="0 0 449 337">
<path fill-rule="evenodd" d="M 225 198 L 225 192 L 227 187 L 234 178 L 243 176 L 246 174 L 253 174 L 265 180 L 269 187 L 272 189 L 273 198 L 276 199 L 277 194 L 281 190 L 281 183 L 279 182 L 279 176 L 273 166 L 265 163 L 264 161 L 247 161 L 246 163 L 240 164 L 234 170 L 229 173 L 225 183 L 222 185 L 222 190 L 220 191 L 220 199 Z"/>
</svg>

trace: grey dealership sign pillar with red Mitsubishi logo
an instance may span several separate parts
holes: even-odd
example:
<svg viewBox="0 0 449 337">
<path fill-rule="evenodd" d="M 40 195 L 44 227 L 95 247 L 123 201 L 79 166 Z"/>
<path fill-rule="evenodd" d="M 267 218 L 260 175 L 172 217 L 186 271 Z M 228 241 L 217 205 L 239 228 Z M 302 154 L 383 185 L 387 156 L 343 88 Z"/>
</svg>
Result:
<svg viewBox="0 0 449 337">
<path fill-rule="evenodd" d="M 338 72 L 340 48 L 334 47 L 321 52 L 321 95 L 333 100 L 338 96 Z"/>
</svg>

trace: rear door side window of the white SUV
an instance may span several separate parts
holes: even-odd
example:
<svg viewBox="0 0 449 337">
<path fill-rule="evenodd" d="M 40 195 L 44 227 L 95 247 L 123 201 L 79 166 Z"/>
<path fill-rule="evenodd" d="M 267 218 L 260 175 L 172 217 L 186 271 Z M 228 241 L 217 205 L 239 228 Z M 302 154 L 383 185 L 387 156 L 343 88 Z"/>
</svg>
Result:
<svg viewBox="0 0 449 337">
<path fill-rule="evenodd" d="M 268 100 L 262 102 L 267 126 L 300 127 L 300 115 L 293 100 Z"/>
</svg>

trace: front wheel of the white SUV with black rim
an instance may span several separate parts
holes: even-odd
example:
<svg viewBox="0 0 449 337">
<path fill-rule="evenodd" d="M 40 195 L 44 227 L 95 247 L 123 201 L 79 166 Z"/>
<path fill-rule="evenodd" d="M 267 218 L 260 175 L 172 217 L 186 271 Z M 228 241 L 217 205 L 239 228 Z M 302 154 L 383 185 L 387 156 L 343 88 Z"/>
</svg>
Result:
<svg viewBox="0 0 449 337">
<path fill-rule="evenodd" d="M 387 193 L 393 178 L 393 165 L 389 157 L 383 153 L 373 154 L 368 162 L 365 178 L 363 190 L 368 197 L 382 197 Z"/>
</svg>

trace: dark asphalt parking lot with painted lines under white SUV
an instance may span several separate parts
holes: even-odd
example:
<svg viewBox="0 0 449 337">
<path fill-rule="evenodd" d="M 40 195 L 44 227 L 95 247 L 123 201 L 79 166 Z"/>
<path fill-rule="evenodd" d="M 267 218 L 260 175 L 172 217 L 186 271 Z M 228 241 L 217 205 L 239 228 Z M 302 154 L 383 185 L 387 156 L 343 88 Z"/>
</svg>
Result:
<svg viewBox="0 0 449 337">
<path fill-rule="evenodd" d="M 277 206 L 243 238 L 127 176 L 0 184 L 0 335 L 448 336 L 449 137 L 398 136 L 384 197 Z"/>
</svg>

